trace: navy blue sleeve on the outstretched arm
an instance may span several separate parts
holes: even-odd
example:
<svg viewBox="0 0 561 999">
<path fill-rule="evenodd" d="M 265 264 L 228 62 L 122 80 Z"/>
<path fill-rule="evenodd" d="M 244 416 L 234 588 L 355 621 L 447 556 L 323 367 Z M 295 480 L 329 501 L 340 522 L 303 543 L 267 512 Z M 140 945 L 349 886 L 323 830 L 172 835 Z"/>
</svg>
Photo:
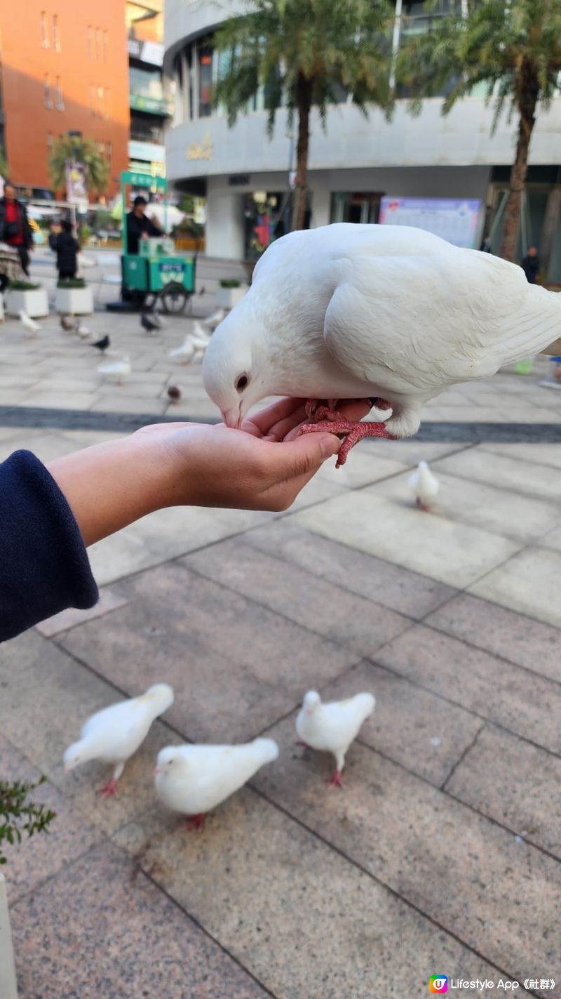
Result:
<svg viewBox="0 0 561 999">
<path fill-rule="evenodd" d="M 67 500 L 29 451 L 0 464 L 0 641 L 99 597 Z"/>
</svg>

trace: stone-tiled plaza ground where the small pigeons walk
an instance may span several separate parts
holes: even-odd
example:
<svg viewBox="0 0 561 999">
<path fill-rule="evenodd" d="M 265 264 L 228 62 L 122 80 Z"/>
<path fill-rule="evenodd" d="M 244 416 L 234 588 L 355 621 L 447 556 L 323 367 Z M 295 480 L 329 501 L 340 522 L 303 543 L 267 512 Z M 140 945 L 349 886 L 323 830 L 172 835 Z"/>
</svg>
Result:
<svg viewBox="0 0 561 999">
<path fill-rule="evenodd" d="M 214 307 L 213 290 L 195 301 Z M 86 322 L 130 355 L 124 386 L 54 316 L 36 340 L 0 327 L 0 459 L 112 436 L 61 411 L 216 419 L 200 366 L 167 356 L 190 318 L 153 337 L 138 317 Z M 431 975 L 457 996 L 505 979 L 561 996 L 561 444 L 467 434 L 559 427 L 549 364 L 444 393 L 426 421 L 466 440 L 364 442 L 283 513 L 146 517 L 90 549 L 94 609 L 0 647 L 1 772 L 46 774 L 57 813 L 4 869 L 20 999 L 417 999 Z M 53 421 L 25 426 L 26 409 Z M 429 513 L 407 489 L 420 460 L 440 482 Z M 84 719 L 157 680 L 176 701 L 118 797 L 95 794 L 100 764 L 65 776 Z M 343 791 L 293 744 L 310 687 L 376 696 Z M 279 760 L 202 834 L 158 805 L 163 745 L 260 734 Z"/>
</svg>

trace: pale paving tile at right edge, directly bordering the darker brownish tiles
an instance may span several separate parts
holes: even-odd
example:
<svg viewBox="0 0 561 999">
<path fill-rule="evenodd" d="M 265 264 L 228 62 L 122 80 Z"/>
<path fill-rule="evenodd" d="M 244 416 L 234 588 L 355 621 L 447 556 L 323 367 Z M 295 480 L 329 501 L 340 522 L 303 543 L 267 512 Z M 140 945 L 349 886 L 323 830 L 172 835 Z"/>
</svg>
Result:
<svg viewBox="0 0 561 999">
<path fill-rule="evenodd" d="M 561 627 L 560 579 L 561 552 L 526 548 L 469 589 L 476 596 Z"/>
</svg>

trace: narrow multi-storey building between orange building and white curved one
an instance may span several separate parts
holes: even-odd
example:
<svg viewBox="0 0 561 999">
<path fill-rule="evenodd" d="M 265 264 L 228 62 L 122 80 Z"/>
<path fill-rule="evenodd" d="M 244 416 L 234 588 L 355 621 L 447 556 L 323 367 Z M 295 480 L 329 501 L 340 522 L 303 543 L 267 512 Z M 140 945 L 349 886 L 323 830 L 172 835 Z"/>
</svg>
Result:
<svg viewBox="0 0 561 999">
<path fill-rule="evenodd" d="M 164 132 L 172 114 L 170 81 L 164 80 L 163 0 L 127 0 L 129 103 L 131 134 L 129 167 L 137 173 L 164 177 Z"/>
</svg>

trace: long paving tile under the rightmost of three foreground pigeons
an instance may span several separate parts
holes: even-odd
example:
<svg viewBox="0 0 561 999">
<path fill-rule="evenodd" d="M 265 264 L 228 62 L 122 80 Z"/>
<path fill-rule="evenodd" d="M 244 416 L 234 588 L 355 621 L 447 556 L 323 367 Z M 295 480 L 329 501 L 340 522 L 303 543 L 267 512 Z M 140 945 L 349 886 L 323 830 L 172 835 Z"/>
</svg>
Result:
<svg viewBox="0 0 561 999">
<path fill-rule="evenodd" d="M 271 730 L 281 744 L 290 720 Z M 256 784 L 487 961 L 518 981 L 537 967 L 559 980 L 558 862 L 359 743 L 340 793 L 325 787 L 331 767 L 323 753 L 282 752 Z"/>
</svg>

